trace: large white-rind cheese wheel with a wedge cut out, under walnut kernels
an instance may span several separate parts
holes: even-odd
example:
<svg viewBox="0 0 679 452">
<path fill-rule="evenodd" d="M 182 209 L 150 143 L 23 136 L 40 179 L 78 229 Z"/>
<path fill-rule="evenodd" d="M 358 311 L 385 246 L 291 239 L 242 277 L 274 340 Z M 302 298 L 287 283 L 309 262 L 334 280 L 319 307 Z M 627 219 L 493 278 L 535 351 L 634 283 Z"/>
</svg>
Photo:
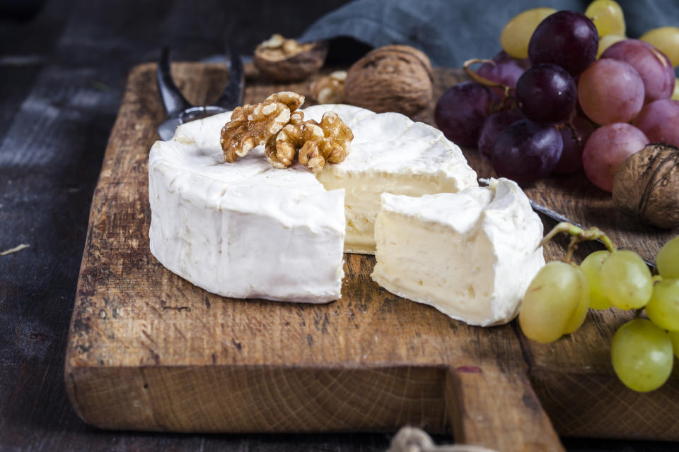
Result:
<svg viewBox="0 0 679 452">
<path fill-rule="evenodd" d="M 156 142 L 151 253 L 219 295 L 328 302 L 340 297 L 343 249 L 373 252 L 384 191 L 419 196 L 477 186 L 460 149 L 433 127 L 349 105 L 310 107 L 305 119 L 320 121 L 327 111 L 352 128 L 354 141 L 347 159 L 318 179 L 301 165 L 272 167 L 262 147 L 224 163 L 219 135 L 230 113 L 182 124 L 171 141 Z"/>
</svg>

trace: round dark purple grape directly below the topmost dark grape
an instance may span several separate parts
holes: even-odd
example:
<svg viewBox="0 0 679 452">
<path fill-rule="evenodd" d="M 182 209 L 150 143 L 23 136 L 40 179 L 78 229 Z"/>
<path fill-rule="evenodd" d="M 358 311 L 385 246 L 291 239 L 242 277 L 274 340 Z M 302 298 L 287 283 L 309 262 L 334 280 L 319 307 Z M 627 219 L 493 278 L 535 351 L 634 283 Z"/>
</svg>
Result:
<svg viewBox="0 0 679 452">
<path fill-rule="evenodd" d="M 569 73 L 556 64 L 536 64 L 516 82 L 516 100 L 532 121 L 555 124 L 571 117 L 578 91 Z"/>
</svg>

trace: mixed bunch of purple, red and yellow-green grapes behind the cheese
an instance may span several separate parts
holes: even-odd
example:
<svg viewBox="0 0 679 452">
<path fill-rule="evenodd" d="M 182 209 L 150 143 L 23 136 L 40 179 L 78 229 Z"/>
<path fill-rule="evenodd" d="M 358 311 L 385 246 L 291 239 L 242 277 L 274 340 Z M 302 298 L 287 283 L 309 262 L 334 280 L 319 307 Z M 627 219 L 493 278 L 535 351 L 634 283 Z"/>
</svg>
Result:
<svg viewBox="0 0 679 452">
<path fill-rule="evenodd" d="M 611 191 L 629 155 L 651 142 L 679 146 L 679 28 L 624 35 L 613 0 L 595 0 L 584 14 L 524 11 L 502 30 L 503 51 L 468 61 L 473 81 L 441 95 L 436 125 L 519 184 L 584 169 Z"/>
</svg>

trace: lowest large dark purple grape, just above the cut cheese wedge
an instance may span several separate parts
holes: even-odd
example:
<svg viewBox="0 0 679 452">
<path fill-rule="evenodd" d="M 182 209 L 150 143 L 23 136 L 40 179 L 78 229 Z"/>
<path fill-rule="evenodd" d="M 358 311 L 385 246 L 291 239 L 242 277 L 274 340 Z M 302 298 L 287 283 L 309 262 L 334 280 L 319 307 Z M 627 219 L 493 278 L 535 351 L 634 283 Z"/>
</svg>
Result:
<svg viewBox="0 0 679 452">
<path fill-rule="evenodd" d="M 563 147 L 561 133 L 554 126 L 524 119 L 497 136 L 491 163 L 499 176 L 526 185 L 552 172 Z"/>
</svg>

